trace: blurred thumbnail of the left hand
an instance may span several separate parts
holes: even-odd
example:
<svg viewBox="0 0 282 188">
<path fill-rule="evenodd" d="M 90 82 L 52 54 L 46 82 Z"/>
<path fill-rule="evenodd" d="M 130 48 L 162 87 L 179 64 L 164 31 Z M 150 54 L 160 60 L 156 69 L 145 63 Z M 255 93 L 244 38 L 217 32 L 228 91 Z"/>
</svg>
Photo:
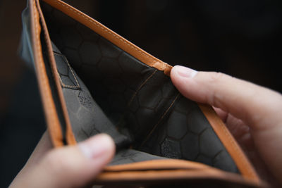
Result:
<svg viewBox="0 0 282 188">
<path fill-rule="evenodd" d="M 114 141 L 107 134 L 98 134 L 84 142 L 80 142 L 78 147 L 87 158 L 99 158 L 114 150 Z"/>
</svg>

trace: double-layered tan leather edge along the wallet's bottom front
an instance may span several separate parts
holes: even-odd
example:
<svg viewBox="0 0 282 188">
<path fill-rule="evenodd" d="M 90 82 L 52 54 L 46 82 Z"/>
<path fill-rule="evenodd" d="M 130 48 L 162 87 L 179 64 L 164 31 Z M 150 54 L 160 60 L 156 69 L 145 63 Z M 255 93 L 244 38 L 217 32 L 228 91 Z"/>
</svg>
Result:
<svg viewBox="0 0 282 188">
<path fill-rule="evenodd" d="M 178 180 L 221 180 L 245 184 L 250 187 L 262 186 L 260 182 L 245 179 L 244 177 L 226 173 L 202 163 L 182 160 L 154 160 L 142 161 L 134 164 L 108 166 L 104 169 L 95 183 L 103 184 L 118 182 L 161 182 Z"/>
</svg>

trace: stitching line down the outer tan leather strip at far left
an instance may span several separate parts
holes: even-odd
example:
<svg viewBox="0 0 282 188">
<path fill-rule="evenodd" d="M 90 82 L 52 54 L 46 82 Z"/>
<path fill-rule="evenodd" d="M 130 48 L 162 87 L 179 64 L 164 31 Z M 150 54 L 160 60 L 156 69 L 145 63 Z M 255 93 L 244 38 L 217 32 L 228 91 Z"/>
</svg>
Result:
<svg viewBox="0 0 282 188">
<path fill-rule="evenodd" d="M 34 6 L 34 10 L 32 10 L 33 11 L 33 16 L 35 17 L 35 37 L 36 37 L 36 39 L 35 39 L 35 42 L 36 42 L 36 48 L 37 48 L 37 52 L 39 53 L 39 51 L 40 51 L 40 48 L 39 48 L 39 33 L 38 33 L 38 30 L 39 30 L 39 27 L 38 27 L 38 24 L 37 24 L 37 21 L 39 22 L 39 17 L 37 17 L 37 14 L 36 14 L 36 10 L 37 10 L 37 7 L 36 7 L 36 2 L 35 1 L 33 1 L 33 6 Z M 45 94 L 47 94 L 48 93 L 48 90 L 47 90 L 47 77 L 45 77 L 44 76 L 44 68 L 43 68 L 43 62 L 42 62 L 42 57 L 40 56 L 40 53 L 39 54 L 37 54 L 37 58 L 38 58 L 38 60 L 39 60 L 39 71 L 41 72 L 40 73 L 40 75 L 42 75 L 42 82 L 43 82 L 43 85 L 42 85 L 42 88 L 44 89 L 44 93 Z M 54 117 L 54 114 L 56 114 L 55 113 L 55 111 L 54 111 L 54 108 L 51 108 L 51 100 L 50 100 L 50 98 L 49 97 L 46 97 L 46 99 L 47 99 L 47 103 L 45 103 L 45 105 L 47 105 L 47 111 L 46 112 L 50 112 L 51 111 L 51 115 L 48 115 L 48 118 L 49 118 L 49 120 L 51 121 L 51 125 L 55 125 L 55 117 Z M 52 130 L 52 132 L 56 132 L 56 130 Z M 56 133 L 55 133 L 56 134 Z"/>
</svg>

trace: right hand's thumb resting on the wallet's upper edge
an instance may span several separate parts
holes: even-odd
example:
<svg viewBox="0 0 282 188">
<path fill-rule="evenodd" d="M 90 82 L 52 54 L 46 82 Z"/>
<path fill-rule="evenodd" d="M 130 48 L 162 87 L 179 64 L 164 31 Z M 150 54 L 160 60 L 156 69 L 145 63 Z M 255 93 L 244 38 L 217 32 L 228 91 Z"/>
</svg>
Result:
<svg viewBox="0 0 282 188">
<path fill-rule="evenodd" d="M 281 122 L 282 96 L 270 89 L 223 73 L 197 72 L 182 66 L 171 70 L 171 80 L 184 96 L 232 113 L 253 129 Z"/>
</svg>

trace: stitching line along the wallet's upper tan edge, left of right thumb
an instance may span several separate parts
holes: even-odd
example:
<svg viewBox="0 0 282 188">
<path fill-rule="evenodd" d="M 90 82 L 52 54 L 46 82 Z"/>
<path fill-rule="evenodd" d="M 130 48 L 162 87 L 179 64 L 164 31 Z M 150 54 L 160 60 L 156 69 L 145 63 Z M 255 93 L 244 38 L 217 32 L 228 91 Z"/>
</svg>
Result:
<svg viewBox="0 0 282 188">
<path fill-rule="evenodd" d="M 94 25 L 97 25 L 97 27 L 100 27 L 102 30 L 104 30 L 105 32 L 109 33 L 110 35 L 112 35 L 113 37 L 115 37 L 116 39 L 119 39 L 121 42 L 123 42 L 124 44 L 127 44 L 128 46 L 130 46 L 130 48 L 132 49 L 135 49 L 135 51 L 137 51 L 138 53 L 146 56 L 147 58 L 150 58 L 152 59 L 152 61 L 155 63 L 155 62 L 159 62 L 159 63 L 162 63 L 164 64 L 163 62 L 161 61 L 158 61 L 156 58 L 153 58 L 152 56 L 149 56 L 148 54 L 145 54 L 144 52 L 140 51 L 140 49 L 137 49 L 137 47 L 133 46 L 132 44 L 128 43 L 127 41 L 125 41 L 125 39 L 119 37 L 118 35 L 115 35 L 114 33 L 112 33 L 110 30 L 102 27 L 101 25 L 99 25 L 98 23 L 95 23 L 94 20 L 90 19 L 90 18 L 87 18 L 85 15 L 83 15 L 82 13 L 78 12 L 77 10 L 75 9 L 72 9 L 68 6 L 66 6 L 65 4 L 61 3 L 61 1 L 56 1 L 56 0 L 52 0 L 54 1 L 54 3 L 56 4 L 61 4 L 61 6 L 65 6 L 66 8 L 68 8 L 68 10 L 72 11 L 73 13 L 77 14 L 77 15 L 80 15 L 82 18 L 84 18 L 85 20 L 88 20 L 90 21 L 91 23 L 93 23 Z M 162 65 L 162 68 L 164 67 L 164 65 Z"/>
</svg>

